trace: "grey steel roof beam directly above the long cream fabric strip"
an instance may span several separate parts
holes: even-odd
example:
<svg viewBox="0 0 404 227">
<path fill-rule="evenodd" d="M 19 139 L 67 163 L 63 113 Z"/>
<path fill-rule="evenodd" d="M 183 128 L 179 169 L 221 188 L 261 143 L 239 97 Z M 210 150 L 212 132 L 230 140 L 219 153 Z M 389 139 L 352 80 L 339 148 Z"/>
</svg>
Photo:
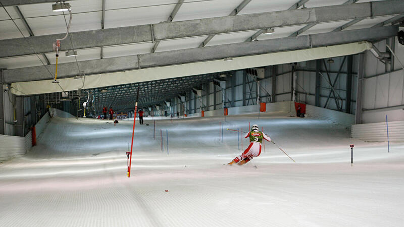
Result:
<svg viewBox="0 0 404 227">
<path fill-rule="evenodd" d="M 169 66 L 182 63 L 211 61 L 227 57 L 237 57 L 252 54 L 262 54 L 295 49 L 307 49 L 327 45 L 337 45 L 357 41 L 373 41 L 395 36 L 398 26 L 384 26 L 377 28 L 364 28 L 340 32 L 329 32 L 278 39 L 267 39 L 257 42 L 232 43 L 202 48 L 182 49 L 156 53 L 146 53 L 118 58 L 98 59 L 78 62 L 80 69 L 86 75 L 118 72 L 129 69 Z M 139 60 L 139 62 L 137 62 Z M 58 78 L 74 77 L 79 75 L 76 63 L 59 64 Z M 55 66 L 46 66 L 51 72 Z M 4 71 L 4 80 L 7 83 L 50 79 L 44 66 L 35 66 Z"/>
</svg>

